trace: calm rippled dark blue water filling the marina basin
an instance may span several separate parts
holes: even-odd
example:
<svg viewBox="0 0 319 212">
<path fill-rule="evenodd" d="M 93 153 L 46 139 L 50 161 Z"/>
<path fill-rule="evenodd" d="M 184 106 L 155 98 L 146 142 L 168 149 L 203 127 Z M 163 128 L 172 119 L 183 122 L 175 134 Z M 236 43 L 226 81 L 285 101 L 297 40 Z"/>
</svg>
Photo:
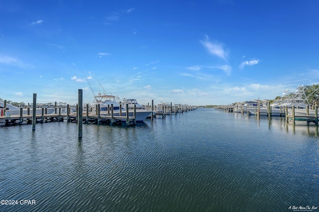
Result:
<svg viewBox="0 0 319 212">
<path fill-rule="evenodd" d="M 0 127 L 0 211 L 319 209 L 318 126 L 212 108 L 136 126 Z M 319 210 L 313 211 L 319 211 Z"/>
</svg>

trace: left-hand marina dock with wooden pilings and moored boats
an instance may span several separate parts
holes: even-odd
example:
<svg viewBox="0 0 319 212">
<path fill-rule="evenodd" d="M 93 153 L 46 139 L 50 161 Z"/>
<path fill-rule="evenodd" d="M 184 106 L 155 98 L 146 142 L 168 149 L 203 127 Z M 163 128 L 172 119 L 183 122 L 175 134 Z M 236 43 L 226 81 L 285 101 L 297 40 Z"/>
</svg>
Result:
<svg viewBox="0 0 319 212">
<path fill-rule="evenodd" d="M 144 121 L 146 118 L 156 117 L 161 115 L 162 118 L 166 114 L 172 115 L 177 112 L 184 112 L 195 109 L 191 106 L 172 106 L 160 104 L 154 106 L 152 100 L 152 106 L 147 108 L 141 106 L 136 100 L 130 99 L 124 102 L 117 102 L 116 97 L 106 94 L 98 94 L 94 97 L 93 105 L 89 106 L 86 104 L 85 107 L 82 105 L 82 90 L 79 89 L 79 104 L 75 107 L 75 110 L 71 111 L 71 107 L 66 105 L 65 107 L 41 107 L 36 106 L 36 94 L 33 94 L 32 109 L 30 107 L 6 107 L 6 100 L 3 101 L 2 105 L 5 108 L 1 108 L 0 124 L 3 123 L 5 126 L 32 123 L 32 128 L 35 129 L 35 123 L 63 121 L 66 119 L 68 122 L 78 123 L 97 123 L 97 124 L 122 124 L 125 122 L 126 125 L 136 124 L 137 121 Z M 56 104 L 55 104 L 56 105 Z M 123 108 L 123 105 L 126 108 Z M 81 108 L 79 108 L 81 106 Z M 84 108 L 84 109 L 83 109 Z M 157 108 L 154 110 L 154 108 Z M 49 113 L 48 113 L 49 111 Z M 82 111 L 82 112 L 78 112 Z M 127 112 L 128 111 L 128 112 Z M 12 113 L 12 114 L 11 114 Z M 34 120 L 34 121 L 33 121 Z"/>
</svg>

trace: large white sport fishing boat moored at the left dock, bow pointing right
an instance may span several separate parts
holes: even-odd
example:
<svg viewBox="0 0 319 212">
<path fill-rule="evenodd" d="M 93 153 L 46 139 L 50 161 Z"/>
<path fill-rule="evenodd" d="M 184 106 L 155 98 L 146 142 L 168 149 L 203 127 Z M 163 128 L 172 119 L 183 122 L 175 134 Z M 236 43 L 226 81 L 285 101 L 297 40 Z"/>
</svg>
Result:
<svg viewBox="0 0 319 212">
<path fill-rule="evenodd" d="M 111 113 L 111 105 L 113 104 L 114 116 L 126 116 L 126 103 L 123 104 L 120 108 L 119 98 L 113 95 L 106 95 L 99 93 L 94 97 L 94 101 L 92 104 L 92 109 L 90 114 L 96 114 L 96 105 L 100 105 L 100 114 L 108 115 Z M 147 109 L 136 109 L 135 120 L 136 121 L 144 121 L 149 115 L 151 115 L 152 111 Z M 129 116 L 134 116 L 134 105 L 133 108 L 129 108 Z M 126 118 L 123 118 L 122 121 L 126 121 Z"/>
</svg>

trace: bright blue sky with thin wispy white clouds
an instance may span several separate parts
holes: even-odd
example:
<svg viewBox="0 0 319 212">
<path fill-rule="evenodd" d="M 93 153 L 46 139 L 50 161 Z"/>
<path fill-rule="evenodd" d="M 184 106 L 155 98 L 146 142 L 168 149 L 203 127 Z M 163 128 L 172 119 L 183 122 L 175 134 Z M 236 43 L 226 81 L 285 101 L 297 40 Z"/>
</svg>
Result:
<svg viewBox="0 0 319 212">
<path fill-rule="evenodd" d="M 0 98 L 188 105 L 319 83 L 318 0 L 0 0 Z"/>
</svg>

